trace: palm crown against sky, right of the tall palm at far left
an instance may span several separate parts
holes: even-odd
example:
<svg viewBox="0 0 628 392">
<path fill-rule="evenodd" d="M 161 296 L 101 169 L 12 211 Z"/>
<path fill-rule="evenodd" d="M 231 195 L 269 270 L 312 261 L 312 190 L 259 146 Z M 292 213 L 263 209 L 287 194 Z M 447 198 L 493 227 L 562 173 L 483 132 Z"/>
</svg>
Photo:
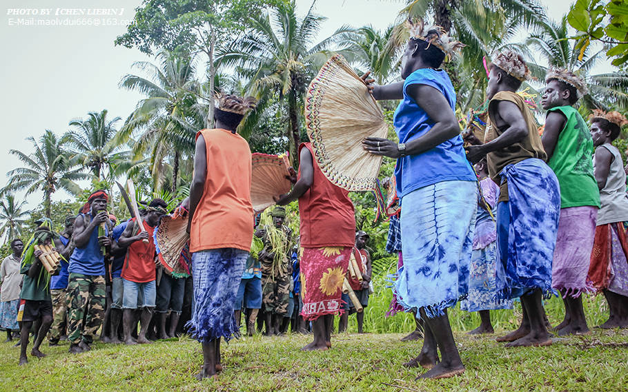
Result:
<svg viewBox="0 0 628 392">
<path fill-rule="evenodd" d="M 97 180 L 101 180 L 101 176 L 108 177 L 115 165 L 130 158 L 130 152 L 123 151 L 115 140 L 115 123 L 121 118 L 108 121 L 107 114 L 107 110 L 103 110 L 89 112 L 86 119 L 76 118 L 70 121 L 70 127 L 75 127 L 75 130 L 63 136 L 63 141 L 71 147 L 72 158 L 88 167 Z"/>
</svg>

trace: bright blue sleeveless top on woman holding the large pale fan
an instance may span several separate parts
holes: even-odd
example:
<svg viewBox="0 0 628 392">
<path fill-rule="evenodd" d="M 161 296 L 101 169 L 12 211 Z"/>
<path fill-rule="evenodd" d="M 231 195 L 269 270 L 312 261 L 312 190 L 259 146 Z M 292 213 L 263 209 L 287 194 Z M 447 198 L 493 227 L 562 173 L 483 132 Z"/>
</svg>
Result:
<svg viewBox="0 0 628 392">
<path fill-rule="evenodd" d="M 395 110 L 393 120 L 400 143 L 423 136 L 434 125 L 422 107 L 408 95 L 407 88 L 413 84 L 434 87 L 447 99 L 451 110 L 455 107 L 455 91 L 447 72 L 431 68 L 412 72 L 404 81 L 404 99 Z M 458 135 L 422 154 L 398 158 L 395 180 L 397 194 L 402 198 L 416 189 L 441 181 L 475 181 L 476 178 L 462 148 L 462 137 Z"/>
</svg>

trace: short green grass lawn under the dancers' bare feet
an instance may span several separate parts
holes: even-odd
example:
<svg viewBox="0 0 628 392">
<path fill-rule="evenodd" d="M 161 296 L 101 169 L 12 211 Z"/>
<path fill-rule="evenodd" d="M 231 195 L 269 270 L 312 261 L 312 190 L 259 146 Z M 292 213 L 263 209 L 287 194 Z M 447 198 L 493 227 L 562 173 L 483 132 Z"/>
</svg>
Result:
<svg viewBox="0 0 628 392">
<path fill-rule="evenodd" d="M 502 331 L 500 331 L 502 332 Z M 422 342 L 402 333 L 343 333 L 333 349 L 304 353 L 311 336 L 242 338 L 223 345 L 219 380 L 197 382 L 202 363 L 194 340 L 138 346 L 95 343 L 68 354 L 42 345 L 48 356 L 18 367 L 18 349 L 0 343 L 0 391 L 628 391 L 628 331 L 593 331 L 556 338 L 551 347 L 505 349 L 495 336 L 455 333 L 467 372 L 447 380 L 414 381 L 419 369 L 402 362 Z"/>
</svg>

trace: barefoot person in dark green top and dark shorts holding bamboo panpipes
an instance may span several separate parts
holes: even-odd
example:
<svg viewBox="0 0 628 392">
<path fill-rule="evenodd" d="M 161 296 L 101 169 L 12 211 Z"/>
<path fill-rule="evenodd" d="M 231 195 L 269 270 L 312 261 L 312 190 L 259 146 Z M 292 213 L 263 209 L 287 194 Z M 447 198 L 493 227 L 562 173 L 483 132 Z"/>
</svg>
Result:
<svg viewBox="0 0 628 392">
<path fill-rule="evenodd" d="M 39 346 L 43 338 L 46 338 L 46 333 L 52 324 L 50 275 L 59 273 L 59 266 L 57 265 L 59 254 L 50 254 L 50 251 L 61 251 L 61 256 L 67 257 L 67 254 L 63 255 L 63 252 L 66 251 L 65 247 L 57 238 L 57 234 L 52 231 L 52 221 L 45 218 L 28 241 L 21 260 L 20 272 L 24 275 L 24 280 L 20 298 L 26 303 L 24 304 L 20 331 L 20 365 L 28 363 L 26 347 L 28 346 L 30 329 L 33 323 L 37 321 L 41 321 L 41 326 L 37 331 L 37 338 L 33 342 L 30 355 L 37 358 L 46 356 L 39 351 Z"/>
</svg>

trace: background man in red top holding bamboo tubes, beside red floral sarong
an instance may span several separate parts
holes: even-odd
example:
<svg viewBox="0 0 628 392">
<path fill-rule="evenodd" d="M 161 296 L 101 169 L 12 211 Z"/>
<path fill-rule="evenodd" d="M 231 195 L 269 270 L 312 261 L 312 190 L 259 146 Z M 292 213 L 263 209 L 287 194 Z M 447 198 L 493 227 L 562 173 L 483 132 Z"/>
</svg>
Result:
<svg viewBox="0 0 628 392">
<path fill-rule="evenodd" d="M 368 240 L 369 234 L 366 234 L 366 232 L 360 230 L 355 233 L 355 247 L 349 260 L 349 274 L 346 274 L 349 285 L 351 285 L 351 289 L 357 296 L 363 309 L 369 305 L 369 282 L 371 282 L 371 255 L 366 250 L 366 241 Z M 348 312 L 340 316 L 338 332 L 346 331 L 349 314 L 355 312 L 357 333 L 364 333 L 364 311 L 356 311 L 348 295 L 342 294 L 342 300 L 346 302 L 344 309 Z"/>
</svg>

